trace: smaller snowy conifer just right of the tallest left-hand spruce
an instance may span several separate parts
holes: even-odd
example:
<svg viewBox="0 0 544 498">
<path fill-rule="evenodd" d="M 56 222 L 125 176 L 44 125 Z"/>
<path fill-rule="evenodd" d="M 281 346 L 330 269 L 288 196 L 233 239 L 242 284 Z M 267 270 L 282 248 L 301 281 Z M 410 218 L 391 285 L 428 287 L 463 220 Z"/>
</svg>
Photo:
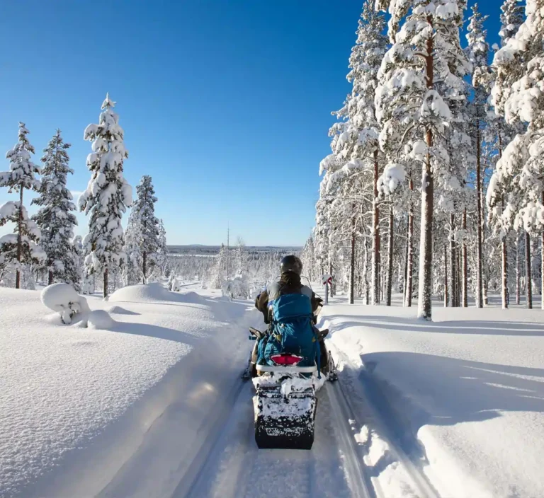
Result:
<svg viewBox="0 0 544 498">
<path fill-rule="evenodd" d="M 156 256 L 159 250 L 159 219 L 155 216 L 155 190 L 152 178 L 142 176 L 136 187 L 136 200 L 132 206 L 132 222 L 139 226 L 140 254 L 142 255 L 142 282 L 147 282 L 147 276 L 157 264 Z"/>
</svg>

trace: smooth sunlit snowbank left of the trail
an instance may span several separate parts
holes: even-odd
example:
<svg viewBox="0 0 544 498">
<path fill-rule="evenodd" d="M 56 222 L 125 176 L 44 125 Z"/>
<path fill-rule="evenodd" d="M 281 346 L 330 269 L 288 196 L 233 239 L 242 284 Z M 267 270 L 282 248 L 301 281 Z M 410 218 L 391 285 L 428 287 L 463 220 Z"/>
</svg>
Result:
<svg viewBox="0 0 544 498">
<path fill-rule="evenodd" d="M 1 497 L 100 492 L 190 387 L 197 398 L 183 417 L 196 420 L 186 420 L 184 435 L 198 430 L 213 401 L 198 379 L 207 380 L 205 350 L 217 357 L 222 344 L 246 338 L 237 322 L 248 306 L 165 289 L 155 299 L 157 286 L 140 287 L 113 294 L 115 306 L 89 298 L 95 325 L 111 330 L 60 325 L 39 291 L 0 288 Z"/>
</svg>

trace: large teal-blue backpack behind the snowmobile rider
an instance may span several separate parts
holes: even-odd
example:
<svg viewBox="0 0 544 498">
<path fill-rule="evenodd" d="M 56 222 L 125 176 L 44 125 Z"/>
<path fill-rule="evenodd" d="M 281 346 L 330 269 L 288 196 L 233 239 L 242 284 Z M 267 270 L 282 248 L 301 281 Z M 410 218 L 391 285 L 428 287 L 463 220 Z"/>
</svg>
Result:
<svg viewBox="0 0 544 498">
<path fill-rule="evenodd" d="M 312 303 L 304 294 L 284 294 L 269 301 L 272 323 L 268 335 L 259 343 L 259 364 L 273 365 L 274 354 L 297 354 L 304 359 L 299 366 L 312 366 L 317 361 L 319 342 L 312 326 Z"/>
</svg>

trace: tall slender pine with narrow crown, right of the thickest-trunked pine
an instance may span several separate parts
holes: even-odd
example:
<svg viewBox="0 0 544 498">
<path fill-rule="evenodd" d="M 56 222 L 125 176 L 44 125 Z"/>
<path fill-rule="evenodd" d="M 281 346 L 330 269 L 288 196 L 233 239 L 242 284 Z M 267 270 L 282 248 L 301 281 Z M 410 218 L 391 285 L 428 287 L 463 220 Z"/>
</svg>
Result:
<svg viewBox="0 0 544 498">
<path fill-rule="evenodd" d="M 485 127 L 485 104 L 487 102 L 487 90 L 484 85 L 478 81 L 478 75 L 482 71 L 487 71 L 487 57 L 489 55 L 489 45 L 486 37 L 487 31 L 484 29 L 484 23 L 488 16 L 482 16 L 478 9 L 478 4 L 472 6 L 472 16 L 469 18 L 468 33 L 467 33 L 467 55 L 472 63 L 472 85 L 474 87 L 474 95 L 470 103 L 471 122 L 472 122 L 472 141 L 476 151 L 476 219 L 477 219 L 477 293 L 476 305 L 478 308 L 484 306 L 483 298 L 483 224 L 485 217 L 483 216 L 482 206 L 482 129 Z M 485 69 L 484 69 L 485 68 Z"/>
</svg>

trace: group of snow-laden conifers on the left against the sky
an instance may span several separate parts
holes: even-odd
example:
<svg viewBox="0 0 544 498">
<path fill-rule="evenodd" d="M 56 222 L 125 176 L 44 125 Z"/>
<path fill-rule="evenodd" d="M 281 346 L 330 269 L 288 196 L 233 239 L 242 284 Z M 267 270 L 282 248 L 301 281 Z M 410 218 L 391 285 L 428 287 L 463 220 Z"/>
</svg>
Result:
<svg viewBox="0 0 544 498">
<path fill-rule="evenodd" d="M 113 108 L 115 102 L 106 95 L 98 124 L 84 131 L 84 139 L 91 141 L 86 160 L 91 179 L 78 207 L 67 188 L 68 175 L 74 173 L 70 144 L 57 129 L 43 150 L 40 167 L 33 162 L 29 131 L 19 123 L 18 141 L 6 154 L 9 170 L 0 173 L 0 187 L 17 196 L 0 207 L 0 226 L 13 225 L 13 233 L 0 238 L 0 285 L 35 289 L 36 281 L 64 282 L 81 294 L 94 294 L 101 287 L 106 297 L 120 286 L 146 283 L 165 273 L 166 231 L 154 214 L 152 178 L 142 177 L 132 202 L 132 187 L 123 176 L 128 151 Z M 37 196 L 30 201 L 39 207 L 34 216 L 28 216 L 25 207 L 26 191 Z M 129 207 L 123 231 L 121 221 Z M 89 219 L 84 238 L 74 237 L 78 208 Z"/>
</svg>

